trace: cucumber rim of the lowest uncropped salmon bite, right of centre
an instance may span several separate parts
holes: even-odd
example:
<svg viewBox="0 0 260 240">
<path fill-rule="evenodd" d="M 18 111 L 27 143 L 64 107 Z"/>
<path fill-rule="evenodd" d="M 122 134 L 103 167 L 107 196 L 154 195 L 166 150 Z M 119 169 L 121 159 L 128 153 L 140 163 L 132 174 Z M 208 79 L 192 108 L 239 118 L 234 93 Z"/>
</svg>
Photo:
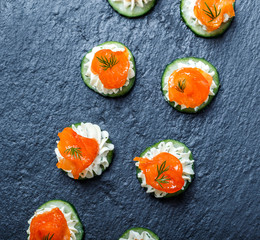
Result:
<svg viewBox="0 0 260 240">
<path fill-rule="evenodd" d="M 158 147 L 158 145 L 161 143 L 161 142 L 164 142 L 164 143 L 168 143 L 168 142 L 172 142 L 173 143 L 173 146 L 178 148 L 178 147 L 183 147 L 184 148 L 184 152 L 185 153 L 188 153 L 190 151 L 190 149 L 184 144 L 184 143 L 181 143 L 179 141 L 176 141 L 176 140 L 172 140 L 172 139 L 166 139 L 166 140 L 162 140 L 158 143 L 155 143 L 154 145 L 146 148 L 140 155 L 140 157 L 144 157 L 145 154 L 150 151 L 151 148 L 156 148 Z M 190 157 L 189 157 L 190 160 L 193 160 L 193 156 L 192 156 L 192 153 L 190 151 Z M 194 171 L 194 163 L 192 164 L 192 169 Z M 138 173 L 141 172 L 141 169 L 139 167 L 136 167 L 136 177 L 137 179 L 139 180 L 139 182 L 142 184 L 142 179 L 138 177 Z M 170 198 L 170 197 L 175 197 L 177 195 L 180 195 L 181 193 L 185 192 L 187 190 L 187 188 L 189 187 L 189 185 L 191 184 L 192 180 L 194 178 L 194 175 L 191 175 L 191 181 L 187 181 L 184 189 L 181 189 L 179 190 L 178 192 L 175 192 L 175 193 L 167 193 L 167 195 L 165 195 L 163 198 Z M 145 189 L 146 190 L 146 189 Z"/>
</svg>

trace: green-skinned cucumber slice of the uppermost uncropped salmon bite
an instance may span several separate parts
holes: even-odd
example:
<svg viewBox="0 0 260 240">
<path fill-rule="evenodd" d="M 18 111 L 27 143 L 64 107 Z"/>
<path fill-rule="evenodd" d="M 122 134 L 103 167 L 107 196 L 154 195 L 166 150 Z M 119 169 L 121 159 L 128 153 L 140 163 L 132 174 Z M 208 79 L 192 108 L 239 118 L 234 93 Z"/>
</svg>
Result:
<svg viewBox="0 0 260 240">
<path fill-rule="evenodd" d="M 109 41 L 109 42 L 104 42 L 98 46 L 103 46 L 103 45 L 111 45 L 111 44 L 114 44 L 116 45 L 117 47 L 121 47 L 121 48 L 124 48 L 126 47 L 124 44 L 120 43 L 120 42 L 113 42 L 113 41 Z M 127 47 L 126 47 L 127 48 Z M 133 63 L 134 67 L 133 67 L 133 70 L 135 72 L 135 75 L 136 75 L 136 68 L 135 68 L 135 60 L 134 60 L 134 56 L 133 54 L 131 53 L 131 51 L 127 48 L 129 54 L 130 54 L 130 61 Z M 90 50 L 88 53 L 90 53 L 92 50 Z M 81 61 L 81 77 L 84 81 L 84 83 L 90 88 L 92 89 L 93 91 L 101 94 L 102 96 L 104 97 L 120 97 L 120 96 L 123 96 L 125 95 L 126 93 L 128 93 L 132 87 L 134 86 L 134 83 L 135 83 L 135 76 L 131 79 L 129 79 L 129 84 L 127 86 L 123 86 L 122 87 L 122 90 L 117 92 L 117 93 L 112 93 L 112 94 L 105 94 L 105 93 L 101 93 L 99 92 L 95 87 L 93 87 L 91 84 L 90 84 L 90 78 L 86 76 L 86 73 L 88 71 L 88 67 L 85 66 L 85 64 L 88 62 L 89 60 L 86 58 L 86 55 L 83 57 L 82 61 Z"/>
</svg>

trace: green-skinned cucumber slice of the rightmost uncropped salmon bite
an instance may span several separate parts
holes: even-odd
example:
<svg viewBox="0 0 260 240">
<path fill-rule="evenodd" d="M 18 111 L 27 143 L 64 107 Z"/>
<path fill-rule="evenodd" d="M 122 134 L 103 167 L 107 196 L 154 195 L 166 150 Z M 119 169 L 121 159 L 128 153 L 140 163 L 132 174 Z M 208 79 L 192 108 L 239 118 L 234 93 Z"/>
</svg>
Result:
<svg viewBox="0 0 260 240">
<path fill-rule="evenodd" d="M 198 106 L 196 109 L 195 108 L 184 108 L 181 109 L 181 105 L 177 105 L 175 106 L 175 102 L 170 102 L 167 98 L 166 98 L 166 94 L 167 91 L 163 90 L 164 86 L 167 84 L 167 80 L 168 77 L 176 70 L 178 69 L 178 63 L 183 63 L 183 64 L 188 64 L 188 62 L 192 60 L 194 62 L 202 62 L 206 65 L 209 66 L 209 71 L 210 72 L 214 72 L 214 76 L 213 76 L 213 81 L 216 84 L 216 87 L 213 90 L 214 96 L 209 95 L 209 98 L 206 102 L 203 102 L 200 106 Z M 162 76 L 162 82 L 161 82 L 161 90 L 163 93 L 163 96 L 166 100 L 166 102 L 168 102 L 173 108 L 175 108 L 176 110 L 180 111 L 180 112 L 185 112 L 185 113 L 197 113 L 199 111 L 201 111 L 203 108 L 205 108 L 207 105 L 210 104 L 210 102 L 212 101 L 212 99 L 216 96 L 218 89 L 219 89 L 219 76 L 218 76 L 218 71 L 217 69 L 208 61 L 206 61 L 203 58 L 194 58 L 194 57 L 187 57 L 187 58 L 180 58 L 180 59 L 176 59 L 175 61 L 173 61 L 172 63 L 168 64 L 164 70 L 163 76 Z"/>
</svg>

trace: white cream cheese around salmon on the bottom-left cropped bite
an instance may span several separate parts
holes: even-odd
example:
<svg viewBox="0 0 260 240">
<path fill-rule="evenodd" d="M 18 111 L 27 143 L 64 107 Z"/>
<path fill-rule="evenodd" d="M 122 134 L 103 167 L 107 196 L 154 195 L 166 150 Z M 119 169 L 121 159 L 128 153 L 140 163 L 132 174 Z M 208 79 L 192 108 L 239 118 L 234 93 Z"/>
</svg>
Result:
<svg viewBox="0 0 260 240">
<path fill-rule="evenodd" d="M 30 239 L 30 225 L 31 225 L 31 222 L 32 222 L 32 219 L 37 216 L 37 215 L 40 215 L 40 214 L 43 214 L 45 212 L 49 212 L 51 211 L 53 208 L 56 208 L 57 206 L 54 206 L 52 205 L 51 207 L 49 208 L 41 208 L 41 209 L 37 209 L 36 212 L 34 213 L 34 215 L 30 218 L 30 220 L 28 221 L 29 223 L 29 228 L 27 229 L 27 234 L 29 235 L 28 236 L 28 240 Z M 59 208 L 59 207 L 58 207 Z M 69 213 L 65 213 L 65 210 L 64 210 L 64 207 L 62 208 L 59 208 L 60 211 L 63 213 L 66 221 L 67 221 L 67 225 L 68 225 L 68 228 L 70 230 L 70 240 L 76 240 L 76 234 L 78 232 L 78 230 L 75 228 L 75 225 L 78 223 L 77 221 L 73 220 L 72 217 L 71 217 L 71 212 Z"/>
</svg>

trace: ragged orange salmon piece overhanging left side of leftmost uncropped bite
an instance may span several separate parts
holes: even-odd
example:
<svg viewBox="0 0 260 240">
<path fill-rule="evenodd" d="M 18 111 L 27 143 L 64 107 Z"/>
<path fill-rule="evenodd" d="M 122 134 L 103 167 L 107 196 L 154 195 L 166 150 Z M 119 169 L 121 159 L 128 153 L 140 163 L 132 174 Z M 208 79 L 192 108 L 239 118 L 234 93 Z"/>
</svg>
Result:
<svg viewBox="0 0 260 240">
<path fill-rule="evenodd" d="M 71 171 L 75 179 L 88 168 L 99 152 L 99 144 L 96 139 L 86 138 L 78 135 L 72 128 L 65 128 L 58 134 L 60 141 L 57 145 L 62 159 L 57 167 L 65 171 Z"/>
</svg>

